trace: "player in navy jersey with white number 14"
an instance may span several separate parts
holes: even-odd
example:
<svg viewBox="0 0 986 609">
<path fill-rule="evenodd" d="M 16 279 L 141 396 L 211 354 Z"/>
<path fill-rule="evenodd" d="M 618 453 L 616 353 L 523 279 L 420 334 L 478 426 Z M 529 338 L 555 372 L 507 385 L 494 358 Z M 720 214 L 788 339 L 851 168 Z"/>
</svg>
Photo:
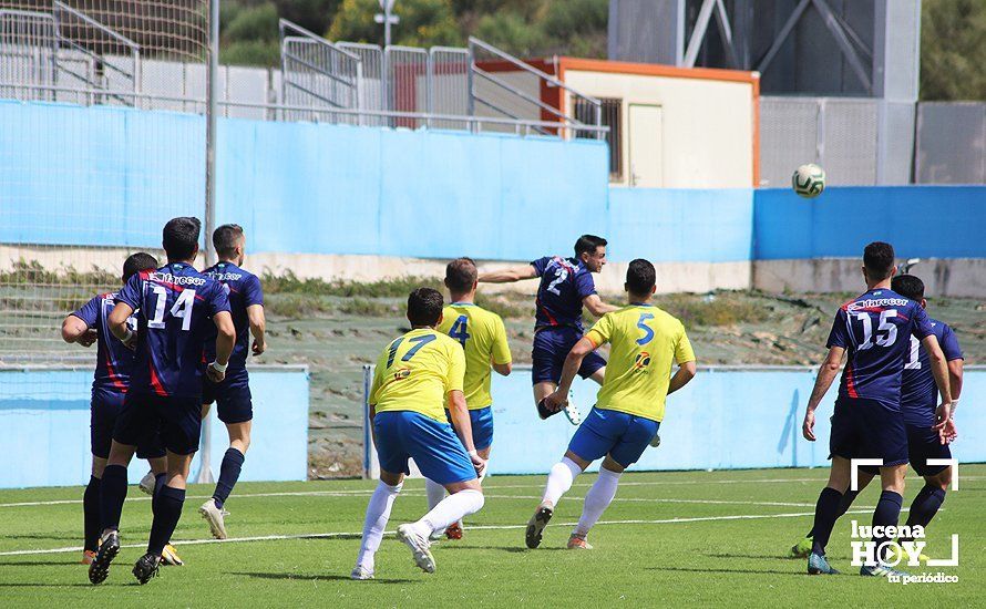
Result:
<svg viewBox="0 0 986 609">
<path fill-rule="evenodd" d="M 202 432 L 201 365 L 205 343 L 216 336 L 216 359 L 207 374 L 222 382 L 236 340 L 223 286 L 195 270 L 201 223 L 174 218 L 164 226 L 167 265 L 141 271 L 117 295 L 107 318 L 110 331 L 135 350 L 131 386 L 116 417 L 110 458 L 100 487 L 103 534 L 89 567 L 100 584 L 120 551 L 120 516 L 126 498 L 126 466 L 137 444 L 158 434 L 167 450 L 167 479 L 154 495 L 147 553 L 134 565 L 137 581 L 157 575 L 161 553 L 182 516 L 185 485 Z M 137 312 L 137 331 L 126 320 Z"/>
</svg>

